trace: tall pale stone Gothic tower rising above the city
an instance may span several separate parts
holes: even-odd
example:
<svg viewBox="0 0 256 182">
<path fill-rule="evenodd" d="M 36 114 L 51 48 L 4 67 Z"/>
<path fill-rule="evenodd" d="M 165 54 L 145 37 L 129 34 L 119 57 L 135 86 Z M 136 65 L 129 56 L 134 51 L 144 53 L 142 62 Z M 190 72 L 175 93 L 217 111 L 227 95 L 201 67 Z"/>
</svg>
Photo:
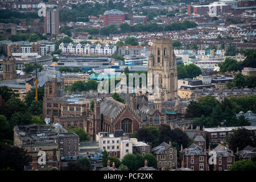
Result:
<svg viewBox="0 0 256 182">
<path fill-rule="evenodd" d="M 148 85 L 154 85 L 154 74 L 158 74 L 159 89 L 154 93 L 156 97 L 151 95 L 148 98 L 154 100 L 155 109 L 159 109 L 162 101 L 177 98 L 177 64 L 171 39 L 153 41 L 151 55 L 148 58 Z"/>
</svg>

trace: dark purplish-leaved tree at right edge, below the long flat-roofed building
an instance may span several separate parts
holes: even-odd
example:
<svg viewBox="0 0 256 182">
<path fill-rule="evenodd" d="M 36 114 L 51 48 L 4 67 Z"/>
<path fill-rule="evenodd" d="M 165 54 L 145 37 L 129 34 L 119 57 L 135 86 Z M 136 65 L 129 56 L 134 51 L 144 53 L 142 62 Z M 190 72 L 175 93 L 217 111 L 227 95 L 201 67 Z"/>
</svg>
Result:
<svg viewBox="0 0 256 182">
<path fill-rule="evenodd" d="M 256 146 L 256 137 L 253 131 L 247 130 L 245 128 L 238 128 L 237 130 L 232 130 L 233 134 L 227 138 L 229 143 L 229 148 L 233 151 L 243 150 L 247 146 Z"/>
</svg>

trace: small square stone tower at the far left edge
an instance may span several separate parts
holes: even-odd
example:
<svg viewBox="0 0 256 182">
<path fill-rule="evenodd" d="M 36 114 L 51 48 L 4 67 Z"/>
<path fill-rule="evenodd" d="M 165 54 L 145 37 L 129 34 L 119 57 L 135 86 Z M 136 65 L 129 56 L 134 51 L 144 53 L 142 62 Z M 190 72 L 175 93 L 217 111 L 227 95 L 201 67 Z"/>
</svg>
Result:
<svg viewBox="0 0 256 182">
<path fill-rule="evenodd" d="M 17 79 L 16 65 L 14 63 L 14 59 L 8 58 L 6 61 L 3 61 L 3 80 L 15 79 Z"/>
</svg>

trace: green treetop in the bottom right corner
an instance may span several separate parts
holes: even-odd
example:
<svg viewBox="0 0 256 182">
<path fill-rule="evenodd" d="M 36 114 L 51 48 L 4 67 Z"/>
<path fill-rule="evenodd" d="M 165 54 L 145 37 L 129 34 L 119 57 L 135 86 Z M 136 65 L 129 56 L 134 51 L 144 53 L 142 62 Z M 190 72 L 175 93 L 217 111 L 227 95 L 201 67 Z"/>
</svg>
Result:
<svg viewBox="0 0 256 182">
<path fill-rule="evenodd" d="M 256 171 L 256 162 L 245 159 L 236 161 L 229 169 L 230 171 Z"/>
</svg>

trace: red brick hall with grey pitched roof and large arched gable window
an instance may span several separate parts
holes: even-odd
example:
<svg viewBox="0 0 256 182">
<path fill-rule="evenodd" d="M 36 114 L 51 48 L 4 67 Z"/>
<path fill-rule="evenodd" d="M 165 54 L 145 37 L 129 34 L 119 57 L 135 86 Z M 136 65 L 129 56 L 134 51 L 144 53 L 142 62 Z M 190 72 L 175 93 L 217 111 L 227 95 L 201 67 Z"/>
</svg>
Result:
<svg viewBox="0 0 256 182">
<path fill-rule="evenodd" d="M 123 130 L 127 135 L 133 134 L 141 127 L 142 121 L 141 115 L 134 109 L 133 104 L 128 106 L 109 97 L 96 101 L 90 113 L 90 140 L 96 140 L 99 132 L 113 133 L 114 130 Z"/>
</svg>

